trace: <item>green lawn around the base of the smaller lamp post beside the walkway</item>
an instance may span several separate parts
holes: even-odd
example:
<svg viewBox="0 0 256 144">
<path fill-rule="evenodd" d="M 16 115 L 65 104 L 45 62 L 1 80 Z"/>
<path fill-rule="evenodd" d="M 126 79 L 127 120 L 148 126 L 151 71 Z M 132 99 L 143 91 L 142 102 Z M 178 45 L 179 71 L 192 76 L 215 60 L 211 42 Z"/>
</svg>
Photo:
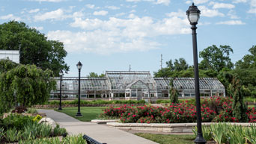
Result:
<svg viewBox="0 0 256 144">
<path fill-rule="evenodd" d="M 66 113 L 69 116 L 72 116 L 76 119 L 79 119 L 83 122 L 90 122 L 91 119 L 97 119 L 100 113 L 103 113 L 103 109 L 106 107 L 81 107 L 80 112 L 82 117 L 76 117 L 77 107 L 64 107 L 62 110 L 56 110 L 61 113 Z"/>
</svg>

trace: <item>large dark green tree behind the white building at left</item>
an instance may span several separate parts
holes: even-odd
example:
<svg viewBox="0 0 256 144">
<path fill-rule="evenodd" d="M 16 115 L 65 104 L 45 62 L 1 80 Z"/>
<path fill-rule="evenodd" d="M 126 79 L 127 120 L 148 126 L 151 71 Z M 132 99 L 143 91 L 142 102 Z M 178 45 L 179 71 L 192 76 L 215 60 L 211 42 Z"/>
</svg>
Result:
<svg viewBox="0 0 256 144">
<path fill-rule="evenodd" d="M 40 69 L 51 69 L 55 76 L 63 69 L 69 70 L 64 62 L 67 51 L 61 42 L 47 40 L 34 28 L 29 28 L 24 22 L 10 21 L 0 25 L 0 49 L 19 50 L 20 63 L 34 64 Z"/>
</svg>

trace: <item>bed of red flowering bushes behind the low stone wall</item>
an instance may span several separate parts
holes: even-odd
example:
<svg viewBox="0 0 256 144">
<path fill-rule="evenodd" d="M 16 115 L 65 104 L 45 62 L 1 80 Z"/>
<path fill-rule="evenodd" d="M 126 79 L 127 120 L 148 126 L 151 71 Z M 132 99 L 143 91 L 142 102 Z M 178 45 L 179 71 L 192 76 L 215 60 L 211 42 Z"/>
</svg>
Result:
<svg viewBox="0 0 256 144">
<path fill-rule="evenodd" d="M 201 104 L 202 122 L 239 122 L 232 116 L 231 98 L 204 99 Z M 256 122 L 256 111 L 247 111 L 249 122 Z M 196 122 L 196 107 L 184 101 L 181 104 L 170 104 L 168 107 L 129 107 L 127 105 L 104 110 L 102 117 L 116 117 L 124 123 L 186 123 Z"/>
</svg>

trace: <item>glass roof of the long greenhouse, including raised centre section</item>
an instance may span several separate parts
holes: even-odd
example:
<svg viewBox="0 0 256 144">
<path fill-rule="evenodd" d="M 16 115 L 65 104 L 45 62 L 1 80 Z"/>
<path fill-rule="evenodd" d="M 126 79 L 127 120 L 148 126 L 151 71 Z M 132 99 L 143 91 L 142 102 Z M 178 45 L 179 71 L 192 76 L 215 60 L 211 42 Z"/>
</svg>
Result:
<svg viewBox="0 0 256 144">
<path fill-rule="evenodd" d="M 81 78 L 81 90 L 127 90 L 148 89 L 168 90 L 172 78 L 153 78 L 149 71 L 106 71 L 104 78 Z M 57 90 L 60 88 L 60 78 L 57 81 Z M 217 78 L 200 78 L 201 90 L 225 90 L 223 84 Z M 175 78 L 174 88 L 177 90 L 195 90 L 194 78 Z M 77 77 L 63 77 L 63 90 L 78 90 Z"/>
</svg>

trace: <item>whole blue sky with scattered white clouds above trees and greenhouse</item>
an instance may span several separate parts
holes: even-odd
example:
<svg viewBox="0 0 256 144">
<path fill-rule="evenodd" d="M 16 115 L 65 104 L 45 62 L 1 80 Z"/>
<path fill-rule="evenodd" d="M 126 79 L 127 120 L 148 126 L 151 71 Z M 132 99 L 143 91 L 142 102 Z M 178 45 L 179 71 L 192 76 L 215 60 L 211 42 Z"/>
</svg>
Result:
<svg viewBox="0 0 256 144">
<path fill-rule="evenodd" d="M 106 70 L 147 70 L 184 57 L 193 63 L 186 10 L 192 0 L 0 0 L 0 23 L 16 19 L 37 28 L 49 40 L 64 43 L 76 76 Z M 198 51 L 228 45 L 236 62 L 256 45 L 256 0 L 194 0 L 201 10 Z"/>
</svg>

